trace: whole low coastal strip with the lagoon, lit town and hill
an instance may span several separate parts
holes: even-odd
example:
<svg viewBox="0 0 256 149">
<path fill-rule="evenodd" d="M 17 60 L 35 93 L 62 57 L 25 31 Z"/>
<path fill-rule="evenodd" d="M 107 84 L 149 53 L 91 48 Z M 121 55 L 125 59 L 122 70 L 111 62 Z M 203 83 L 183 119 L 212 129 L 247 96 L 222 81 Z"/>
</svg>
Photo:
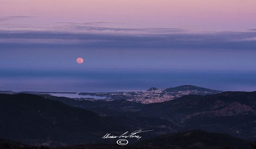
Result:
<svg viewBox="0 0 256 149">
<path fill-rule="evenodd" d="M 148 90 L 125 90 L 125 91 L 116 91 L 116 92 L 100 92 L 100 93 L 87 93 L 87 92 L 33 92 L 33 91 L 1 91 L 5 94 L 17 94 L 17 93 L 29 93 L 36 95 L 49 94 L 55 96 L 68 97 L 74 100 L 117 100 L 125 99 L 127 101 L 134 101 L 143 104 L 157 103 L 173 100 L 180 98 L 185 95 L 209 95 L 221 93 L 219 90 L 212 90 L 203 87 L 198 87 L 194 85 L 182 85 L 166 89 L 158 89 L 156 87 L 151 87 Z M 76 97 L 71 95 L 77 94 Z M 68 95 L 68 96 L 65 96 Z M 100 99 L 97 97 L 101 97 Z"/>
</svg>

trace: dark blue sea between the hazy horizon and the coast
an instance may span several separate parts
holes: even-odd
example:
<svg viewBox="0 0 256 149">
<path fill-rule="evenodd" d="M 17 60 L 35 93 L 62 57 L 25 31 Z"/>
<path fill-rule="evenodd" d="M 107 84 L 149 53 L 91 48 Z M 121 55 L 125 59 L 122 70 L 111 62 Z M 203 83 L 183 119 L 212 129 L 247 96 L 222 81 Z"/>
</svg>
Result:
<svg viewBox="0 0 256 149">
<path fill-rule="evenodd" d="M 22 75 L 21 75 L 22 74 Z M 179 70 L 147 71 L 16 71 L 1 74 L 0 90 L 114 92 L 192 84 L 223 91 L 255 91 L 256 73 Z"/>
</svg>

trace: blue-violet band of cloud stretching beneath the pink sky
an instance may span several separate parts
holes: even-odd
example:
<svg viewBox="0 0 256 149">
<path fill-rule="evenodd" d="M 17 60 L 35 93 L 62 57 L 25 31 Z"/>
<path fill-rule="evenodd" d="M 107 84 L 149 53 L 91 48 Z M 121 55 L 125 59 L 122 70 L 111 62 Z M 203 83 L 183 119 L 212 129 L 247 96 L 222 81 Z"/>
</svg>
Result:
<svg viewBox="0 0 256 149">
<path fill-rule="evenodd" d="M 178 28 L 71 26 L 74 31 L 0 30 L 0 47 L 256 49 L 255 30 L 198 33 Z"/>
</svg>

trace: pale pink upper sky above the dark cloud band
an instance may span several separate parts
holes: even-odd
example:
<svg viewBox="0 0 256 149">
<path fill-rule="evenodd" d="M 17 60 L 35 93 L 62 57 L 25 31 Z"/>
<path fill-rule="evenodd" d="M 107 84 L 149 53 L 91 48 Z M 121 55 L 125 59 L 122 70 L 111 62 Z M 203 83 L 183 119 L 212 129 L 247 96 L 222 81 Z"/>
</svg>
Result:
<svg viewBox="0 0 256 149">
<path fill-rule="evenodd" d="M 255 0 L 1 0 L 0 23 L 2 28 L 10 24 L 112 22 L 96 25 L 246 30 L 256 28 L 255 8 Z"/>
</svg>

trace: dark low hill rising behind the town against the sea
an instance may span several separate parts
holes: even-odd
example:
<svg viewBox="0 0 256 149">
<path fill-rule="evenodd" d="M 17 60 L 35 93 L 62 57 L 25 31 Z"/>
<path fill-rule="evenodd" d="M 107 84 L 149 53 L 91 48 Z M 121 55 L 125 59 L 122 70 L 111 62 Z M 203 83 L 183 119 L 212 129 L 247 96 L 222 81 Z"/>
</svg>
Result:
<svg viewBox="0 0 256 149">
<path fill-rule="evenodd" d="M 194 85 L 182 85 L 182 86 L 177 86 L 177 87 L 166 88 L 164 90 L 164 92 L 187 91 L 187 90 L 205 91 L 205 92 L 211 92 L 212 94 L 222 92 L 220 90 L 212 90 L 212 89 L 198 87 L 198 86 L 194 86 Z"/>
</svg>

